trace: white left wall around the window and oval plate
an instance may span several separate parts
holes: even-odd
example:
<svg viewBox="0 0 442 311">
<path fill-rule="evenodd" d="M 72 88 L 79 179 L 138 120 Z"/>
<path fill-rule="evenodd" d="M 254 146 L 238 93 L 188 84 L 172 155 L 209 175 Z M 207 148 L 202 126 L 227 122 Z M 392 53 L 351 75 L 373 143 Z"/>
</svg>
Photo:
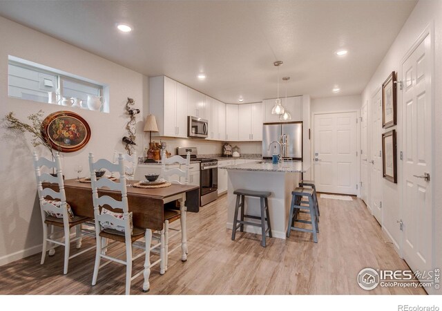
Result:
<svg viewBox="0 0 442 311">
<path fill-rule="evenodd" d="M 30 113 L 40 109 L 45 115 L 60 110 L 79 113 L 88 122 L 91 138 L 81 151 L 64 153 L 66 178 L 76 177 L 75 164 L 82 164 L 88 172 L 88 153 L 97 158 L 110 157 L 115 150 L 124 151 L 121 142 L 126 135 L 124 114 L 127 97 L 135 100 L 136 108 L 146 109 L 148 100 L 147 79 L 102 57 L 97 57 L 59 41 L 41 32 L 0 17 L 0 117 L 9 111 L 25 121 Z M 109 86 L 110 113 L 86 111 L 57 105 L 19 100 L 8 97 L 8 55 L 50 66 L 67 73 L 87 77 Z M 143 114 L 141 114 L 143 115 Z M 142 117 L 138 117 L 137 152 L 141 153 L 144 139 Z M 0 265 L 41 252 L 41 216 L 36 200 L 37 188 L 32 166 L 30 136 L 12 135 L 0 128 Z M 47 157 L 48 151 L 40 149 Z"/>
</svg>

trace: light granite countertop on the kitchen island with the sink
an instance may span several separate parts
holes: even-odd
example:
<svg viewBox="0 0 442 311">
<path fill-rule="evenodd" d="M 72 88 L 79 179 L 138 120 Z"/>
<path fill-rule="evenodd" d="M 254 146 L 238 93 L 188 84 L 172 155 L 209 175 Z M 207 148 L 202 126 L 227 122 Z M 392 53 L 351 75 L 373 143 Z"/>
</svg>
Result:
<svg viewBox="0 0 442 311">
<path fill-rule="evenodd" d="M 309 168 L 310 166 L 303 162 L 294 161 L 286 161 L 279 164 L 272 164 L 271 161 L 261 161 L 220 167 L 220 169 L 236 171 L 276 171 L 281 173 L 305 173 Z"/>
</svg>

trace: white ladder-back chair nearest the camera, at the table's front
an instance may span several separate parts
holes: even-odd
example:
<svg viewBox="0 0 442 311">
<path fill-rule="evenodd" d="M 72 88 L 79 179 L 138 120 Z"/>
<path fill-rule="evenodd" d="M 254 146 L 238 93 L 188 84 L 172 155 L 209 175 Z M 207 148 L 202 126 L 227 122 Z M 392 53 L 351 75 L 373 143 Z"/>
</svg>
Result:
<svg viewBox="0 0 442 311">
<path fill-rule="evenodd" d="M 95 255 L 95 267 L 93 272 L 93 280 L 92 285 L 97 283 L 98 271 L 101 267 L 108 265 L 111 262 L 122 263 L 126 265 L 126 294 L 131 293 L 131 281 L 135 279 L 137 276 L 141 274 L 144 275 L 144 283 L 143 283 L 143 292 L 148 292 L 150 284 L 149 284 L 149 275 L 151 274 L 151 267 L 160 262 L 160 260 L 151 264 L 150 254 L 151 250 L 159 247 L 160 245 L 153 245 L 151 247 L 152 241 L 152 231 L 151 229 L 142 229 L 133 227 L 131 228 L 131 216 L 132 213 L 128 211 L 128 199 L 127 199 L 127 190 L 126 190 L 126 179 L 122 178 L 124 176 L 124 157 L 122 153 L 119 153 L 118 164 L 113 164 L 108 160 L 100 159 L 97 162 L 94 162 L 93 153 L 89 153 L 89 169 L 90 169 L 90 180 L 92 185 L 92 193 L 93 193 L 93 205 L 94 205 L 94 215 L 95 215 L 95 232 L 97 234 L 97 250 Z M 100 178 L 97 180 L 95 176 L 95 171 L 99 171 L 100 169 L 107 169 L 112 173 L 119 173 L 119 180 L 117 182 L 113 182 L 108 178 Z M 102 187 L 107 187 L 107 189 L 111 189 L 113 191 L 118 191 L 122 200 L 118 201 L 110 196 L 98 196 L 98 189 Z M 115 214 L 115 211 L 111 211 L 111 213 L 103 214 L 103 206 L 111 207 L 112 209 L 117 209 L 118 211 L 122 211 L 119 214 Z M 105 208 L 106 208 L 105 207 Z M 100 213 L 100 211 L 102 213 Z M 118 231 L 117 229 L 110 229 L 109 225 L 113 227 L 119 226 L 119 229 L 122 231 Z M 131 230 L 132 229 L 132 230 Z M 131 232 L 132 231 L 132 232 Z M 102 246 L 102 239 L 106 238 L 113 240 L 114 242 L 110 245 L 104 244 Z M 140 238 L 145 238 L 145 242 L 142 243 Z M 117 242 L 122 242 L 126 244 L 126 261 L 118 258 L 122 256 L 124 253 L 117 255 L 116 257 L 106 255 L 104 250 L 112 247 Z M 132 247 L 136 247 L 142 249 L 140 254 L 133 256 Z M 141 256 L 145 256 L 144 260 L 144 269 L 141 272 L 138 272 L 134 276 L 132 276 L 132 261 Z M 100 265 L 101 258 L 106 258 L 109 261 Z"/>
</svg>

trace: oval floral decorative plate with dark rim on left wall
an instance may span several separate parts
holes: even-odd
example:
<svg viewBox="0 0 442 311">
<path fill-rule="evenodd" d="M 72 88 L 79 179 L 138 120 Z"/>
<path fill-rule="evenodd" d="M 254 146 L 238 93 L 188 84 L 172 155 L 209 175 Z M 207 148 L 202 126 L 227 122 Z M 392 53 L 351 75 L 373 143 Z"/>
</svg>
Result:
<svg viewBox="0 0 442 311">
<path fill-rule="evenodd" d="M 78 151 L 90 139 L 89 124 L 72 111 L 57 111 L 48 115 L 41 124 L 41 132 L 52 149 L 61 152 Z"/>
</svg>

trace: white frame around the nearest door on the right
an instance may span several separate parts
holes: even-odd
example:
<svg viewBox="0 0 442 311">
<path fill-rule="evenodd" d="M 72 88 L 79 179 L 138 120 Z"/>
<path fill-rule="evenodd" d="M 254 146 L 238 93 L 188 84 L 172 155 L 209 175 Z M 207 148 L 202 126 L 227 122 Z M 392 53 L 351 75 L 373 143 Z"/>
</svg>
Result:
<svg viewBox="0 0 442 311">
<path fill-rule="evenodd" d="M 419 37 L 417 37 L 417 39 L 413 42 L 412 46 L 410 46 L 410 48 L 407 50 L 407 53 L 405 53 L 405 55 L 402 57 L 401 62 L 400 62 L 400 66 L 398 68 L 398 76 L 403 77 L 403 64 L 407 61 L 407 59 L 412 55 L 412 53 L 414 53 L 414 50 L 416 50 L 416 48 L 425 40 L 425 38 L 427 36 L 430 36 L 430 57 L 428 57 L 428 61 L 430 62 L 430 75 L 432 78 L 432 83 L 431 83 L 431 87 L 430 87 L 430 95 L 431 95 L 431 100 L 430 100 L 430 104 L 431 104 L 431 135 L 432 135 L 432 146 L 434 146 L 434 138 L 435 138 L 435 124 L 436 124 L 436 119 L 435 119 L 435 102 L 434 102 L 434 93 L 435 93 L 435 85 L 434 85 L 434 49 L 436 48 L 435 46 L 435 36 L 434 36 L 434 21 L 430 21 L 430 23 L 427 24 L 427 26 L 424 28 L 424 30 L 421 32 L 421 35 L 419 35 Z M 402 82 L 402 80 L 401 80 Z M 401 151 L 403 151 L 403 147 L 405 146 L 405 122 L 404 122 L 404 113 L 403 113 L 403 93 L 400 92 L 398 93 L 398 95 L 400 95 L 400 101 L 398 99 L 398 102 L 401 103 L 401 109 L 398 109 L 398 112 L 400 111 L 401 115 L 398 115 L 398 117 L 400 117 L 399 120 L 401 120 L 402 124 L 401 124 L 401 130 L 402 130 L 402 139 L 400 140 L 401 142 L 401 147 L 398 148 L 398 152 L 400 153 Z M 435 167 L 435 159 L 436 159 L 436 155 L 434 154 L 434 149 L 432 148 L 432 160 L 431 160 L 431 171 L 430 171 L 430 176 L 434 176 L 434 167 Z M 403 200 L 404 200 L 404 176 L 403 176 L 403 160 L 399 160 L 398 161 L 398 172 L 401 172 L 401 187 L 400 187 L 400 191 L 401 191 L 401 195 L 400 195 L 400 204 L 401 204 L 401 219 L 403 218 Z M 436 209 L 434 206 L 434 196 L 435 196 L 435 192 L 434 189 L 434 181 L 431 185 L 432 187 L 432 194 L 431 194 L 431 214 L 432 214 L 432 241 L 431 241 L 431 247 L 432 247 L 432 254 L 430 256 L 431 258 L 431 267 L 432 269 L 434 269 L 434 264 L 436 263 L 436 252 L 434 251 L 436 249 L 436 243 L 435 243 L 435 237 L 436 237 Z M 403 258 L 403 243 L 404 243 L 404 238 L 403 238 L 403 234 L 401 234 L 401 249 L 399 249 L 399 255 L 401 256 L 401 258 Z M 425 288 L 425 290 L 427 290 L 427 288 Z M 432 292 L 434 292 L 434 288 L 429 288 L 429 294 L 431 294 Z"/>
</svg>

